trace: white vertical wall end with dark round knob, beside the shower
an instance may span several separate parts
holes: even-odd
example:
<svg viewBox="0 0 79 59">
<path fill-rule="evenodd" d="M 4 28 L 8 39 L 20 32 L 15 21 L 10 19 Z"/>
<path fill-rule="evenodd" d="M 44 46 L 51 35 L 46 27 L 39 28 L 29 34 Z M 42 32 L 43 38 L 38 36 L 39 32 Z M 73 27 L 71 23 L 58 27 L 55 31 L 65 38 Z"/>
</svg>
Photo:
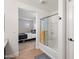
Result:
<svg viewBox="0 0 79 59">
<path fill-rule="evenodd" d="M 58 0 L 58 59 L 66 59 L 66 0 Z"/>
</svg>

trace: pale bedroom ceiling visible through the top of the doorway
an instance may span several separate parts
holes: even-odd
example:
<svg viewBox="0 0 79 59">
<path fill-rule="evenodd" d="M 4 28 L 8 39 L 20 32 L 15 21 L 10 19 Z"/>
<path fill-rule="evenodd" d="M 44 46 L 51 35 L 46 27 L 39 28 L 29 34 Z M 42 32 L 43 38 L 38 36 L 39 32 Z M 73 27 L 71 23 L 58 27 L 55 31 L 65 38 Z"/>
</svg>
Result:
<svg viewBox="0 0 79 59">
<path fill-rule="evenodd" d="M 18 9 L 18 15 L 20 19 L 35 19 L 35 12 L 34 11 L 29 11 L 29 10 L 25 10 L 25 9 Z"/>
</svg>

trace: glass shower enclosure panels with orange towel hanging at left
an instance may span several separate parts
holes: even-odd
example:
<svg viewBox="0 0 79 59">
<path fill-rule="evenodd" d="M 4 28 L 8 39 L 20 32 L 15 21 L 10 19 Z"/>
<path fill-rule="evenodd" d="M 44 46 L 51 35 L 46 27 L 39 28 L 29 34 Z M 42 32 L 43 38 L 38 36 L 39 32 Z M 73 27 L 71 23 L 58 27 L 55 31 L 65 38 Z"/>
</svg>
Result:
<svg viewBox="0 0 79 59">
<path fill-rule="evenodd" d="M 41 19 L 40 41 L 57 51 L 58 48 L 58 15 Z"/>
</svg>

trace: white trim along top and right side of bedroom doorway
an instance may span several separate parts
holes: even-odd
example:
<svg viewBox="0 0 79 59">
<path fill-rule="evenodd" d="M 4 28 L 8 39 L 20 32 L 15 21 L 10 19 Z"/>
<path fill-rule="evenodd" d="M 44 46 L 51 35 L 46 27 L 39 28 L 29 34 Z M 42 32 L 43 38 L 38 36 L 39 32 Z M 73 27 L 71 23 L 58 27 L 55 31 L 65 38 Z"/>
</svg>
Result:
<svg viewBox="0 0 79 59">
<path fill-rule="evenodd" d="M 33 7 L 33 6 L 30 6 L 30 5 L 26 5 L 26 4 L 24 4 L 24 3 L 22 3 L 22 2 L 18 2 L 17 3 L 18 4 L 18 10 L 19 10 L 19 8 L 21 8 L 21 9 L 24 9 L 24 10 L 26 10 L 26 11 L 33 11 L 33 12 L 35 12 L 35 14 L 36 14 L 36 42 L 35 42 L 35 48 L 37 48 L 38 49 L 38 38 L 37 38 L 37 8 L 35 8 L 35 7 Z M 18 23 L 19 23 L 19 21 L 18 21 Z M 19 28 L 19 26 L 18 26 L 18 28 Z M 19 33 L 19 30 L 18 30 L 18 33 Z M 18 44 L 18 46 L 19 46 L 19 44 Z"/>
</svg>

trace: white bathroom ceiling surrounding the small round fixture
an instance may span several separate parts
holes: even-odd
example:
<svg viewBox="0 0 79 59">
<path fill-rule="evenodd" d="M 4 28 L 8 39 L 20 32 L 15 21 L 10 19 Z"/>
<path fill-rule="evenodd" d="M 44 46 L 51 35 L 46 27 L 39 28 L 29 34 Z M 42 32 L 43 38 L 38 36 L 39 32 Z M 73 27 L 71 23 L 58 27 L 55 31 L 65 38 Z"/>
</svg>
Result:
<svg viewBox="0 0 79 59">
<path fill-rule="evenodd" d="M 18 0 L 18 1 L 44 10 L 55 11 L 58 9 L 58 0 L 45 0 L 46 1 L 45 4 L 41 4 L 40 0 Z"/>
</svg>

